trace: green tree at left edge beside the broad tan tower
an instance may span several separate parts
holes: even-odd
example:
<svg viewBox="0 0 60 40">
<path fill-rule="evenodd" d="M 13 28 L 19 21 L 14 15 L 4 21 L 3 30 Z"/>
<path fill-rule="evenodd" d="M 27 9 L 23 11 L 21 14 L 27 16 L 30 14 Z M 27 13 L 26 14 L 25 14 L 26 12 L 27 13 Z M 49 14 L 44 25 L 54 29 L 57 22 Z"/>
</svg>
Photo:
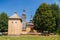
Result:
<svg viewBox="0 0 60 40">
<path fill-rule="evenodd" d="M 8 16 L 5 12 L 0 14 L 0 29 L 2 32 L 7 31 L 8 28 Z"/>
</svg>

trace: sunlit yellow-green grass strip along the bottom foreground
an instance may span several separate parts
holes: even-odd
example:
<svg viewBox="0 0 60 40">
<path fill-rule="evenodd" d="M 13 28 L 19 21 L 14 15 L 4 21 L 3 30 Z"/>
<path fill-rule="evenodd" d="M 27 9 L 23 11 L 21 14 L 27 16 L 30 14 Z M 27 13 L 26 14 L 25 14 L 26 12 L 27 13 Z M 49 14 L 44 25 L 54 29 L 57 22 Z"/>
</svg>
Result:
<svg viewBox="0 0 60 40">
<path fill-rule="evenodd" d="M 37 35 L 0 36 L 0 40 L 60 40 L 60 35 L 51 35 L 51 36 L 37 36 Z"/>
</svg>

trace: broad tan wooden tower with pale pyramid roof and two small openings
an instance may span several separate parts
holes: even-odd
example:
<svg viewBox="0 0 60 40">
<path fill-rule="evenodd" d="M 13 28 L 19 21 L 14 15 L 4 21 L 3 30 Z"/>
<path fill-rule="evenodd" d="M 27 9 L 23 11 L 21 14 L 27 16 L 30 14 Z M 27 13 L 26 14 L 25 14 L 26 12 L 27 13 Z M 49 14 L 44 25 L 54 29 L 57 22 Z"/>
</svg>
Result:
<svg viewBox="0 0 60 40">
<path fill-rule="evenodd" d="M 9 17 L 8 20 L 8 35 L 20 35 L 22 32 L 22 22 L 17 12 Z"/>
</svg>

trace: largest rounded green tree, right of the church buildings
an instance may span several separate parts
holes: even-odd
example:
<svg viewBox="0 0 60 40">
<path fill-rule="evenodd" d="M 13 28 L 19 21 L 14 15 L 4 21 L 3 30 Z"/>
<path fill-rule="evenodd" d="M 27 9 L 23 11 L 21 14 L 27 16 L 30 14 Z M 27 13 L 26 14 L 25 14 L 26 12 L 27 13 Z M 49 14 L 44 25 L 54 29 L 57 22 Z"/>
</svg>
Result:
<svg viewBox="0 0 60 40">
<path fill-rule="evenodd" d="M 52 15 L 52 10 L 49 5 L 42 3 L 33 18 L 34 29 L 38 31 L 49 31 L 55 30 L 55 17 Z"/>
</svg>

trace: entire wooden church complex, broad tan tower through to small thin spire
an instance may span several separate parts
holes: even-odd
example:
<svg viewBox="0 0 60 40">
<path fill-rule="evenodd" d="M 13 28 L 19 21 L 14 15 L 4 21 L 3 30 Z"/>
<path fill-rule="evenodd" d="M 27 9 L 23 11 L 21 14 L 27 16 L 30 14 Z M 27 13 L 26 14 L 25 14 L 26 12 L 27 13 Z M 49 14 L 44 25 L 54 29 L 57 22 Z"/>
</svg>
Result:
<svg viewBox="0 0 60 40">
<path fill-rule="evenodd" d="M 21 18 L 17 15 L 17 12 L 14 12 L 14 15 L 10 16 L 8 20 L 8 35 L 28 34 L 33 32 L 33 27 L 32 16 L 30 22 L 26 22 L 25 10 Z"/>
</svg>

